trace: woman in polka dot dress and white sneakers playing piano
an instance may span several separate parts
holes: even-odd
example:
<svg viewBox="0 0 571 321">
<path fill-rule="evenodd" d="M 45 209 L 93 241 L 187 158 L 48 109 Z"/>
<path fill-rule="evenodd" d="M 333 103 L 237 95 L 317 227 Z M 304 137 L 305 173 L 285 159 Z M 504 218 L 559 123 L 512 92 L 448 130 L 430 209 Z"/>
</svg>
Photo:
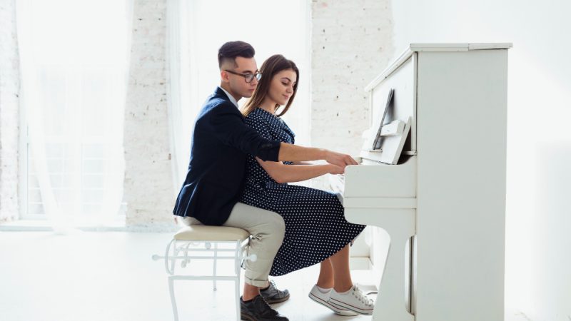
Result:
<svg viewBox="0 0 571 321">
<path fill-rule="evenodd" d="M 293 61 L 274 55 L 264 61 L 256 92 L 241 111 L 248 126 L 264 138 L 294 143 L 294 133 L 279 118 L 288 111 L 298 88 Z M 280 106 L 283 111 L 276 115 Z M 270 275 L 284 275 L 320 263 L 318 281 L 309 297 L 339 315 L 371 315 L 373 301 L 353 285 L 349 245 L 365 225 L 348 223 L 343 205 L 333 193 L 288 183 L 326 173 L 343 173 L 336 165 L 276 163 L 248 158 L 242 203 L 280 214 L 285 237 Z"/>
</svg>

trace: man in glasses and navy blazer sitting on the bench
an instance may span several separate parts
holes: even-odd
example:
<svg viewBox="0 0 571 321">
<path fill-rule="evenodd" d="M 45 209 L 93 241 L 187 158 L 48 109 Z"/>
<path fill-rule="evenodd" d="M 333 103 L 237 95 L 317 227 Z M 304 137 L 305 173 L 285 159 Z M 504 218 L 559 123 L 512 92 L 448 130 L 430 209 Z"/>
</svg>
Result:
<svg viewBox="0 0 571 321">
<path fill-rule="evenodd" d="M 231 41 L 218 50 L 221 84 L 209 96 L 196 119 L 191 161 L 174 215 L 183 223 L 224 225 L 251 233 L 246 261 L 241 315 L 246 320 L 288 320 L 268 303 L 288 300 L 287 290 L 268 283 L 273 258 L 281 246 L 285 225 L 277 213 L 238 203 L 245 182 L 248 154 L 263 161 L 325 160 L 345 168 L 356 164 L 348 155 L 268 141 L 246 126 L 238 101 L 251 97 L 259 77 L 255 51 L 243 41 Z"/>
</svg>

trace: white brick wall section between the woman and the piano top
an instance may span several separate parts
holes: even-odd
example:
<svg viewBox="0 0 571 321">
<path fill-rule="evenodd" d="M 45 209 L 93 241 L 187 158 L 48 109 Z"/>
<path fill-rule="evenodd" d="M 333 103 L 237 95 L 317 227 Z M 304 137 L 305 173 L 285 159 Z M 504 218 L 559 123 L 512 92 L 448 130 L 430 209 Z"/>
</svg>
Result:
<svg viewBox="0 0 571 321">
<path fill-rule="evenodd" d="M 356 156 L 369 126 L 363 89 L 394 54 L 390 1 L 313 0 L 311 28 L 311 144 Z"/>
</svg>

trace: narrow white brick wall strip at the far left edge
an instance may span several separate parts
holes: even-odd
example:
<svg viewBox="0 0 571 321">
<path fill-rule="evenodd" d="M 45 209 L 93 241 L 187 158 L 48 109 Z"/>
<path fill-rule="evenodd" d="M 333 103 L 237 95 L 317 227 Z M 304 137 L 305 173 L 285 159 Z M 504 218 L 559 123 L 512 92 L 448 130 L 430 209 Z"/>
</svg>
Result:
<svg viewBox="0 0 571 321">
<path fill-rule="evenodd" d="M 0 1 L 0 223 L 18 217 L 19 56 L 16 1 Z"/>
</svg>

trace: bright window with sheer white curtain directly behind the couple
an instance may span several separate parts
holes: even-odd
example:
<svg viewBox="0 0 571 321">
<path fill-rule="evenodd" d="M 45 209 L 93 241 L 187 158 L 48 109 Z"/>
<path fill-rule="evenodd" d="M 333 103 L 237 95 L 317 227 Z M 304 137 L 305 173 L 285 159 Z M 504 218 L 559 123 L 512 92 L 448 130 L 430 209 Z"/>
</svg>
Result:
<svg viewBox="0 0 571 321">
<path fill-rule="evenodd" d="M 295 143 L 310 144 L 308 1 L 168 0 L 167 8 L 168 108 L 175 193 L 188 169 L 196 115 L 220 83 L 217 54 L 226 41 L 250 43 L 256 49 L 258 68 L 273 54 L 295 61 L 300 68 L 298 93 L 284 118 L 295 131 Z"/>
</svg>

